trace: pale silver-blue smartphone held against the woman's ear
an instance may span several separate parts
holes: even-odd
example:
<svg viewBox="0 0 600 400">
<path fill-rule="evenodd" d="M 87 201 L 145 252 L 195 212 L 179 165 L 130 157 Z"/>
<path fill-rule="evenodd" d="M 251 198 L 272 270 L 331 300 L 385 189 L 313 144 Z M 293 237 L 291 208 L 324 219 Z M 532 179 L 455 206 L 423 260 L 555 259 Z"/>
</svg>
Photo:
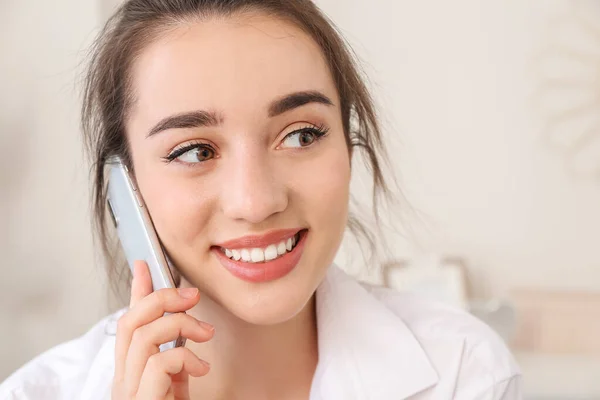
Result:
<svg viewBox="0 0 600 400">
<path fill-rule="evenodd" d="M 169 259 L 158 239 L 150 214 L 127 166 L 119 157 L 107 161 L 108 199 L 110 216 L 133 273 L 133 262 L 143 260 L 148 264 L 152 289 L 174 288 L 175 282 L 169 268 Z M 185 345 L 179 337 L 160 346 L 160 351 Z"/>
</svg>

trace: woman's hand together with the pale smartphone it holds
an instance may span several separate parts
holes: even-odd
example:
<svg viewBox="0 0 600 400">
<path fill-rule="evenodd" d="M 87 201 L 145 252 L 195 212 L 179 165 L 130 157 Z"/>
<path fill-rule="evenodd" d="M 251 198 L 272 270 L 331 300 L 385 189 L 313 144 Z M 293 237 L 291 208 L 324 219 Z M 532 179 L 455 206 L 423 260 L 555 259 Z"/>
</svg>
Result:
<svg viewBox="0 0 600 400">
<path fill-rule="evenodd" d="M 209 365 L 184 346 L 185 338 L 208 341 L 214 328 L 185 313 L 198 303 L 198 289 L 175 288 L 135 180 L 120 159 L 108 166 L 108 208 L 134 275 L 117 328 L 112 398 L 188 399 L 188 376 L 205 375 Z"/>
</svg>

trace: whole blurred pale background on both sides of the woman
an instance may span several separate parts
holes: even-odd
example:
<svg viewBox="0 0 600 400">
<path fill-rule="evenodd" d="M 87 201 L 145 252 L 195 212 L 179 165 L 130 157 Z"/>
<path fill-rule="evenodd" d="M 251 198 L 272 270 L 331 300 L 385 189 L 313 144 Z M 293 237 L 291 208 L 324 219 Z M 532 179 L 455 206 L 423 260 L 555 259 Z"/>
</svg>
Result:
<svg viewBox="0 0 600 400">
<path fill-rule="evenodd" d="M 352 241 L 339 264 L 484 319 L 527 399 L 600 399 L 600 1 L 316 3 L 363 62 L 414 207 L 386 215 L 385 268 L 357 266 Z M 0 0 L 0 381 L 119 306 L 78 125 L 117 4 Z"/>
</svg>

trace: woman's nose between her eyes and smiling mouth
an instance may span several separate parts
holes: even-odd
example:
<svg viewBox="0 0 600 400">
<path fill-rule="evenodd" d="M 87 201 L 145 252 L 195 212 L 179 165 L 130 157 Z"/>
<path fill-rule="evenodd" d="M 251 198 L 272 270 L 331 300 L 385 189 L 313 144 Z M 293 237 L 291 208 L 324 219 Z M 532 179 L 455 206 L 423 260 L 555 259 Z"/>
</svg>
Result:
<svg viewBox="0 0 600 400">
<path fill-rule="evenodd" d="M 226 217 L 258 224 L 286 209 L 285 183 L 266 155 L 246 153 L 228 161 L 220 200 Z"/>
</svg>

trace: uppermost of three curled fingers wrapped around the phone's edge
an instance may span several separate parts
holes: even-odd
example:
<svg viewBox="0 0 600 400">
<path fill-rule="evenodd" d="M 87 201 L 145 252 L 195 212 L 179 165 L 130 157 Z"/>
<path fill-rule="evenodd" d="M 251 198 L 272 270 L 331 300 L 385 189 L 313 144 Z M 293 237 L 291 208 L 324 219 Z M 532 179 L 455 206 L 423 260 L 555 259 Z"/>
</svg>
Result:
<svg viewBox="0 0 600 400">
<path fill-rule="evenodd" d="M 161 289 L 140 299 L 135 307 L 129 309 L 117 324 L 115 343 L 114 381 L 121 383 L 125 379 L 125 362 L 131 344 L 133 332 L 160 317 L 165 312 L 181 312 L 192 308 L 200 296 L 198 289 Z"/>
</svg>

